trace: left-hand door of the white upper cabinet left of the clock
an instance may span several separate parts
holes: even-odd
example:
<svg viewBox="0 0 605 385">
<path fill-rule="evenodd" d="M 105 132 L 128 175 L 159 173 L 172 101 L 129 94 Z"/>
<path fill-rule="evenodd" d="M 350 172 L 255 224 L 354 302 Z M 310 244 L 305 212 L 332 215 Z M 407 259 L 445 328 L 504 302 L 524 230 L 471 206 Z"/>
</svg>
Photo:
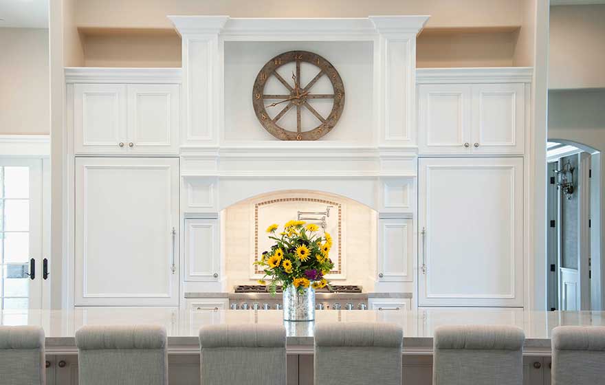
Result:
<svg viewBox="0 0 605 385">
<path fill-rule="evenodd" d="M 76 84 L 76 153 L 126 153 L 126 85 Z"/>
</svg>

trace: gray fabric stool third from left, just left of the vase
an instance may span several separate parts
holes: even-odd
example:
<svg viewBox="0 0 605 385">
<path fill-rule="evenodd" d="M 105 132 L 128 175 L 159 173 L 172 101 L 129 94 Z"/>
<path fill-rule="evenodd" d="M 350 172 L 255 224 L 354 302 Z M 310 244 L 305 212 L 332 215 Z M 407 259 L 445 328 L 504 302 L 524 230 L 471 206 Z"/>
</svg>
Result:
<svg viewBox="0 0 605 385">
<path fill-rule="evenodd" d="M 286 383 L 283 325 L 210 325 L 199 346 L 201 385 Z"/>
</svg>

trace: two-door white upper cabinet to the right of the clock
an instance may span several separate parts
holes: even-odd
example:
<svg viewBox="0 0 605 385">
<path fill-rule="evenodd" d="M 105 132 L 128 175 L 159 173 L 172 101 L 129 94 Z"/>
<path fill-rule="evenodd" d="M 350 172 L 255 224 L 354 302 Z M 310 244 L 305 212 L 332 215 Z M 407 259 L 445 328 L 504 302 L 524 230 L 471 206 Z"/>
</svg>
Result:
<svg viewBox="0 0 605 385">
<path fill-rule="evenodd" d="M 522 154 L 525 85 L 418 86 L 421 154 Z"/>
</svg>

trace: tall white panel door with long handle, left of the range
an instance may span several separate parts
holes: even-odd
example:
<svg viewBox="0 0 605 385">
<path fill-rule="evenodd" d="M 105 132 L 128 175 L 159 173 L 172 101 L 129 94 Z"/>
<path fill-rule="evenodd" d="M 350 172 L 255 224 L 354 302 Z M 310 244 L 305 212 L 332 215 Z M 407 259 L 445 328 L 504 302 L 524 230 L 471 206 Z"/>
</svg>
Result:
<svg viewBox="0 0 605 385">
<path fill-rule="evenodd" d="M 76 158 L 76 305 L 179 303 L 179 159 Z"/>
</svg>

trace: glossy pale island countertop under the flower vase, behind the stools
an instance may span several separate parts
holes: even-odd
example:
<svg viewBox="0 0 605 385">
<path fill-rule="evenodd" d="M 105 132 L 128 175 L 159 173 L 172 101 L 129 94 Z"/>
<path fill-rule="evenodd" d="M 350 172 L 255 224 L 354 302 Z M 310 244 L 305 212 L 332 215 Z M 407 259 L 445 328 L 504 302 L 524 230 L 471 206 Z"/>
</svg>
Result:
<svg viewBox="0 0 605 385">
<path fill-rule="evenodd" d="M 2 325 L 39 325 L 47 354 L 75 354 L 75 331 L 83 325 L 163 325 L 168 353 L 199 351 L 198 332 L 212 324 L 284 324 L 289 354 L 313 352 L 313 329 L 322 322 L 394 322 L 404 328 L 404 354 L 432 354 L 434 329 L 442 325 L 516 325 L 525 331 L 525 355 L 550 355 L 550 336 L 560 325 L 604 326 L 603 311 L 521 309 L 419 309 L 415 311 L 321 310 L 314 322 L 284 322 L 281 310 L 203 310 L 169 307 L 87 307 L 74 310 L 3 310 Z"/>
</svg>

